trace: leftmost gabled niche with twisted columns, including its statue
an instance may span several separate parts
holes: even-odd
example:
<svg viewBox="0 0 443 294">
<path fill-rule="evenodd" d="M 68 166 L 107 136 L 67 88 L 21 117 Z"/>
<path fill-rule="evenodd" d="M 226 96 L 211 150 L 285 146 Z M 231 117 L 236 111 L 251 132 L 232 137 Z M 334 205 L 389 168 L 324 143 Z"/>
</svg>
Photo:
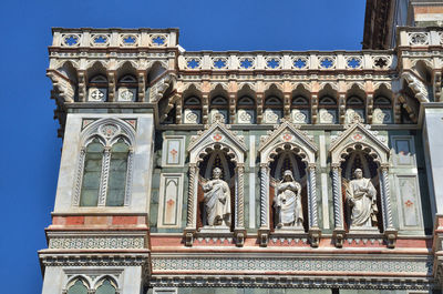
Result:
<svg viewBox="0 0 443 294">
<path fill-rule="evenodd" d="M 244 138 L 215 115 L 205 131 L 190 139 L 189 186 L 185 245 L 195 237 L 235 240 L 243 246 L 245 230 L 244 176 L 247 148 Z"/>
</svg>

